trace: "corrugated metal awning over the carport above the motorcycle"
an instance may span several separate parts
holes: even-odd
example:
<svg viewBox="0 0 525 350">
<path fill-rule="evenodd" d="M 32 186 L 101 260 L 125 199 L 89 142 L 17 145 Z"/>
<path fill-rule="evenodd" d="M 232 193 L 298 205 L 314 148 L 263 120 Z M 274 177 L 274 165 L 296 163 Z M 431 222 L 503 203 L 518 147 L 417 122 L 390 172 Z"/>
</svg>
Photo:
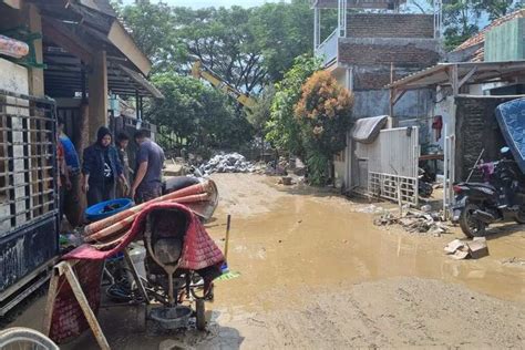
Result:
<svg viewBox="0 0 525 350">
<path fill-rule="evenodd" d="M 394 90 L 415 90 L 440 85 L 453 86 L 455 81 L 455 87 L 460 89 L 464 84 L 506 81 L 517 76 L 525 76 L 525 60 L 508 62 L 440 63 L 400 79 L 387 85 L 387 87 Z"/>
</svg>

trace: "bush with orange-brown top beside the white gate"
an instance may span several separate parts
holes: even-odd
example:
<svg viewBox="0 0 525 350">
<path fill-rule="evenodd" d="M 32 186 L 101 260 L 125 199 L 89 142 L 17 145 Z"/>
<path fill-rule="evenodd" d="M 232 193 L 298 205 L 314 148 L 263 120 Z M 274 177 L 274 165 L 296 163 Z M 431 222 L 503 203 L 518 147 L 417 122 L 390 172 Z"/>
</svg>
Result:
<svg viewBox="0 0 525 350">
<path fill-rule="evenodd" d="M 310 183 L 323 185 L 329 164 L 347 145 L 353 96 L 330 73 L 313 73 L 301 87 L 295 117 L 301 131 Z"/>
</svg>

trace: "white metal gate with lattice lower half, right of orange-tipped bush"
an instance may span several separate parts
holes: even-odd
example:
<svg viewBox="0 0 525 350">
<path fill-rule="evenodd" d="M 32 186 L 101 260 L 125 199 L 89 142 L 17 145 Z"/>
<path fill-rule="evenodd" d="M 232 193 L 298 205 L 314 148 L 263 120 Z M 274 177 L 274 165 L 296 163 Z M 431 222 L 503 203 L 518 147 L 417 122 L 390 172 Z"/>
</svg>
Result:
<svg viewBox="0 0 525 350">
<path fill-rule="evenodd" d="M 381 198 L 418 205 L 419 128 L 381 131 L 372 144 L 358 143 L 356 153 L 368 159 L 368 191 Z"/>
</svg>

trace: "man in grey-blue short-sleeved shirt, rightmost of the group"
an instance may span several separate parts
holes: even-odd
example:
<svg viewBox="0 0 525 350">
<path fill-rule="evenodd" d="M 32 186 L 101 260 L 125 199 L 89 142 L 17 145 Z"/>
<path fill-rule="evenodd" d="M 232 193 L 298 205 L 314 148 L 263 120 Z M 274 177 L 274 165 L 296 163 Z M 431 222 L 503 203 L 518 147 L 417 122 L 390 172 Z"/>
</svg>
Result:
<svg viewBox="0 0 525 350">
<path fill-rule="evenodd" d="M 135 141 L 138 144 L 138 151 L 136 152 L 135 181 L 131 189 L 131 197 L 136 203 L 144 203 L 159 197 L 162 194 L 164 151 L 147 137 L 145 131 L 137 131 Z"/>
</svg>

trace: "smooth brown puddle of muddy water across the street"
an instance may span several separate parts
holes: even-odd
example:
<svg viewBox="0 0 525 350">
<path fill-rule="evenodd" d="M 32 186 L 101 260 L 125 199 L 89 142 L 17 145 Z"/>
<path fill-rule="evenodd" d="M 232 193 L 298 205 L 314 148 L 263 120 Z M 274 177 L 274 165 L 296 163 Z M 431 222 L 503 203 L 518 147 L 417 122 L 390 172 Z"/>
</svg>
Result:
<svg viewBox="0 0 525 350">
<path fill-rule="evenodd" d="M 216 217 L 224 220 L 224 207 Z M 210 233 L 224 237 L 224 226 L 212 227 Z M 269 213 L 233 217 L 228 265 L 241 276 L 217 284 L 217 306 L 267 309 L 272 302 L 255 296 L 275 288 L 291 291 L 404 276 L 459 282 L 497 298 L 525 301 L 525 269 L 501 264 L 523 257 L 525 239 L 498 237 L 488 241 L 490 257 L 455 261 L 442 250 L 453 238 L 380 230 L 371 215 L 352 213 L 338 200 L 282 196 Z"/>
</svg>

